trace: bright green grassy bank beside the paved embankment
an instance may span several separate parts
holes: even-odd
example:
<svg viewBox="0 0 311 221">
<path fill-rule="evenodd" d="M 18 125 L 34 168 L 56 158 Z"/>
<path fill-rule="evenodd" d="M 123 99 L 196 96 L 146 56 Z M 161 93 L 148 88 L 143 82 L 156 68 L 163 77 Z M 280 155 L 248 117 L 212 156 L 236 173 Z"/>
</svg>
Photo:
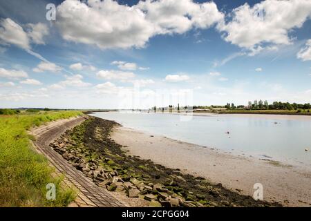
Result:
<svg viewBox="0 0 311 221">
<path fill-rule="evenodd" d="M 74 192 L 60 189 L 61 178 L 30 144 L 27 130 L 56 119 L 80 115 L 79 111 L 40 112 L 0 116 L 0 206 L 66 206 Z M 57 187 L 56 200 L 46 200 L 46 184 Z"/>
</svg>

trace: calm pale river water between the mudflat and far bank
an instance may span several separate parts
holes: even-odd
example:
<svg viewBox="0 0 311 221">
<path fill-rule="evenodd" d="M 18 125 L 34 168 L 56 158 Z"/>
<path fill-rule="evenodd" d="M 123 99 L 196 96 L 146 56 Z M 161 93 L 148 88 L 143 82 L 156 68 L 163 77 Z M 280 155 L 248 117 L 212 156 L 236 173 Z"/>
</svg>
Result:
<svg viewBox="0 0 311 221">
<path fill-rule="evenodd" d="M 261 115 L 212 115 L 193 116 L 184 121 L 180 115 L 160 113 L 99 112 L 93 115 L 139 131 L 238 155 L 311 166 L 311 118 L 303 116 L 278 119 Z"/>
</svg>

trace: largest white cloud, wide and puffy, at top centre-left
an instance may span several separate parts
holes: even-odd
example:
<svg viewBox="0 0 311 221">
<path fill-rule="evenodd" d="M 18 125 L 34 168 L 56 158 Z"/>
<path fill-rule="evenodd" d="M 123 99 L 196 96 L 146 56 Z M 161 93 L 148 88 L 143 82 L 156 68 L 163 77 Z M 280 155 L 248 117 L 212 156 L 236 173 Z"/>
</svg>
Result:
<svg viewBox="0 0 311 221">
<path fill-rule="evenodd" d="M 56 25 L 67 41 L 102 49 L 142 48 L 155 35 L 209 28 L 221 19 L 214 2 L 147 0 L 127 6 L 112 0 L 66 0 L 57 6 Z"/>
</svg>

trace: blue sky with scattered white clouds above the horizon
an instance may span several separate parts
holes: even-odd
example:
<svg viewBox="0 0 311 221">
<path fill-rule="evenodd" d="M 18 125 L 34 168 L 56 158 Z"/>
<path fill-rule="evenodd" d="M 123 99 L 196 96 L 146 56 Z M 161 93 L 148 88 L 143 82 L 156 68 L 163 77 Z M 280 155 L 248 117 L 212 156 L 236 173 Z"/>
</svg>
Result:
<svg viewBox="0 0 311 221">
<path fill-rule="evenodd" d="M 0 108 L 255 99 L 311 103 L 310 0 L 0 1 Z"/>
</svg>

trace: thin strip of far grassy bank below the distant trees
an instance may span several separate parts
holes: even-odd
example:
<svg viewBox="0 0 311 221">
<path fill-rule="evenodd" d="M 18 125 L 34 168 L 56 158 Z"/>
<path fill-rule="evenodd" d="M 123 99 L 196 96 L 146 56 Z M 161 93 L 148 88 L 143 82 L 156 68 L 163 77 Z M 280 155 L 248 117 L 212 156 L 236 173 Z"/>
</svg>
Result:
<svg viewBox="0 0 311 221">
<path fill-rule="evenodd" d="M 311 110 L 223 110 L 223 111 L 194 111 L 194 113 L 223 113 L 223 114 L 262 114 L 262 115 L 311 115 Z"/>
</svg>

